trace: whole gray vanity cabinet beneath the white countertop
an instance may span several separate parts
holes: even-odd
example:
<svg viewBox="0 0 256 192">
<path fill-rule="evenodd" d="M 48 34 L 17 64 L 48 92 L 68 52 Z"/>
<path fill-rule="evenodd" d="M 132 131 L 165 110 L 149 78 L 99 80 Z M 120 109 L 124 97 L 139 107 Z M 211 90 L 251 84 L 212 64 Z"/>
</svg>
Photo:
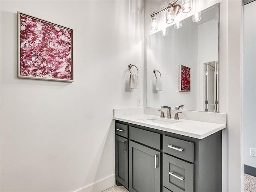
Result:
<svg viewBox="0 0 256 192">
<path fill-rule="evenodd" d="M 116 184 L 130 192 L 221 192 L 221 131 L 202 139 L 116 120 Z"/>
</svg>

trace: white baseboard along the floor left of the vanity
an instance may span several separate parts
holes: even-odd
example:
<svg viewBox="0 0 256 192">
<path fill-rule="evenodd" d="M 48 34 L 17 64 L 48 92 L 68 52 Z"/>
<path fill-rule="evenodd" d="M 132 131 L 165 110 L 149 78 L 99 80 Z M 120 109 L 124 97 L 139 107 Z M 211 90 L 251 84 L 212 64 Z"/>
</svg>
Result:
<svg viewBox="0 0 256 192">
<path fill-rule="evenodd" d="M 90 184 L 76 192 L 102 192 L 116 184 L 116 175 L 111 175 L 93 184 Z"/>
</svg>

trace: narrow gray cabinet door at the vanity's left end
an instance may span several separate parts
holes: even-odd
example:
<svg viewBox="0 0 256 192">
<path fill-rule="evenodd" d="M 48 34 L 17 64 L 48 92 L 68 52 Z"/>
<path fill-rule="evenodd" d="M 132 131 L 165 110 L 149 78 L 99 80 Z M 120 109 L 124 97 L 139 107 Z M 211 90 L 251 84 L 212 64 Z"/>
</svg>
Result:
<svg viewBox="0 0 256 192">
<path fill-rule="evenodd" d="M 128 140 L 115 135 L 116 180 L 128 188 Z"/>
</svg>

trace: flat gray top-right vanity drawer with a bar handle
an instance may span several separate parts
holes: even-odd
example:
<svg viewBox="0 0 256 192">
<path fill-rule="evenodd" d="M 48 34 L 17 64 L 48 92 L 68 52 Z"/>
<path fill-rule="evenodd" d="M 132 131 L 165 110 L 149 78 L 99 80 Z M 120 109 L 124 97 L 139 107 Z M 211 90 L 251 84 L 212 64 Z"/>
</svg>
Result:
<svg viewBox="0 0 256 192">
<path fill-rule="evenodd" d="M 194 143 L 163 136 L 163 151 L 172 156 L 194 162 Z"/>
</svg>

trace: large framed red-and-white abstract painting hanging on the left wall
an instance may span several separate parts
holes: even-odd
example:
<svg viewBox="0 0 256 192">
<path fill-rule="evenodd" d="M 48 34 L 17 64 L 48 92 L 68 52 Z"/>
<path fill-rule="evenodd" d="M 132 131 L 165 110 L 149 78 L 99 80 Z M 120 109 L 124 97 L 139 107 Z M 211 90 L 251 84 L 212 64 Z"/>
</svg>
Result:
<svg viewBox="0 0 256 192">
<path fill-rule="evenodd" d="M 18 78 L 73 82 L 73 30 L 18 12 Z"/>
</svg>

